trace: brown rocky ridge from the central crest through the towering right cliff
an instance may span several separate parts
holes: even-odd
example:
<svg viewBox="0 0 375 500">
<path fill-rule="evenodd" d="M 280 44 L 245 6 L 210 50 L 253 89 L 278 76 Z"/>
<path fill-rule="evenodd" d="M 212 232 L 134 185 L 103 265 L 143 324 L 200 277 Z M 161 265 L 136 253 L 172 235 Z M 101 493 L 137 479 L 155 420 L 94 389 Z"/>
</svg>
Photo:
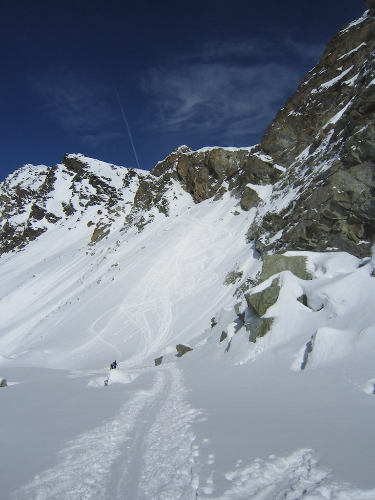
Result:
<svg viewBox="0 0 375 500">
<path fill-rule="evenodd" d="M 160 204 L 171 179 L 196 203 L 229 190 L 240 208 L 256 208 L 247 239 L 263 255 L 327 248 L 368 255 L 375 241 L 375 6 L 366 5 L 329 42 L 259 145 L 181 146 L 144 179 L 135 206 Z M 257 189 L 264 185 L 271 187 L 266 199 Z"/>
</svg>

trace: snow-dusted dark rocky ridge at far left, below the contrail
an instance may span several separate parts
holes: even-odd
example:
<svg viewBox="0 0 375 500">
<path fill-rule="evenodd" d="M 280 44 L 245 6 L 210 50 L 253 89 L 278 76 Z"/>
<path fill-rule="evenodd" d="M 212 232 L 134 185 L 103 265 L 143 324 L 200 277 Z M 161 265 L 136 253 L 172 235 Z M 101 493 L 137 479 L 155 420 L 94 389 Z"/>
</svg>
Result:
<svg viewBox="0 0 375 500">
<path fill-rule="evenodd" d="M 0 254 L 24 247 L 56 224 L 73 226 L 89 209 L 88 244 L 102 239 L 118 218 L 124 220 L 142 172 L 86 160 L 66 154 L 51 167 L 24 165 L 0 184 Z"/>
</svg>

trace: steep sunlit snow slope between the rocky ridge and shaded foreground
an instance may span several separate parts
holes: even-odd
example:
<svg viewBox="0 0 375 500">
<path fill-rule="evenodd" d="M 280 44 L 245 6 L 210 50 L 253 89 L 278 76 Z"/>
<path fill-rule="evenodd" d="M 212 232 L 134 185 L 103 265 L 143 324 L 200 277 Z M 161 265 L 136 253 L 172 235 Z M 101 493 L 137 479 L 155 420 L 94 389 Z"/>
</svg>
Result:
<svg viewBox="0 0 375 500">
<path fill-rule="evenodd" d="M 224 280 L 236 259 L 241 276 L 260 267 L 256 259 L 244 267 L 249 214 L 235 215 L 229 195 L 199 205 L 182 190 L 175 197 L 169 217 L 156 211 L 141 233 L 111 232 L 87 248 L 81 221 L 3 255 L 2 358 L 89 368 L 107 355 L 134 364 L 208 327 L 234 300 Z"/>
</svg>

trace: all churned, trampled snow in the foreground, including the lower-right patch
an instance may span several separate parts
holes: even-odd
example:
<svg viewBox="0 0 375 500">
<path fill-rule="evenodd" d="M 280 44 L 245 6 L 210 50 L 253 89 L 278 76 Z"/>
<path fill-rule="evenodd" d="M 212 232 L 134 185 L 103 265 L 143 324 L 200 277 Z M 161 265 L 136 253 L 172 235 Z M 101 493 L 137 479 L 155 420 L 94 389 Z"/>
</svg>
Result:
<svg viewBox="0 0 375 500">
<path fill-rule="evenodd" d="M 113 371 L 116 378 L 126 374 Z M 6 500 L 375 498 L 375 490 L 357 489 L 332 477 L 318 465 L 311 449 L 257 458 L 249 464 L 238 460 L 234 470 L 218 477 L 210 441 L 204 439 L 200 449 L 193 433 L 200 411 L 186 402 L 183 371 L 176 363 L 167 363 L 131 374 L 141 376 L 142 383 L 124 392 L 126 401 L 117 415 L 70 440 L 58 452 L 55 465 Z"/>
</svg>

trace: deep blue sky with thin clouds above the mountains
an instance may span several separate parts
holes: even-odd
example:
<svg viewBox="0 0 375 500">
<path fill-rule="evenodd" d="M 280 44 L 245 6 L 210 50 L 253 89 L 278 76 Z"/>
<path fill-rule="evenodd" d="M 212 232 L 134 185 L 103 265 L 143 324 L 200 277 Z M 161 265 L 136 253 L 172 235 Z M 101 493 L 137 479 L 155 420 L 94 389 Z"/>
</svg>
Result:
<svg viewBox="0 0 375 500">
<path fill-rule="evenodd" d="M 0 0 L 0 180 L 65 152 L 151 169 L 180 144 L 252 145 L 365 9 L 363 0 Z"/>
</svg>

